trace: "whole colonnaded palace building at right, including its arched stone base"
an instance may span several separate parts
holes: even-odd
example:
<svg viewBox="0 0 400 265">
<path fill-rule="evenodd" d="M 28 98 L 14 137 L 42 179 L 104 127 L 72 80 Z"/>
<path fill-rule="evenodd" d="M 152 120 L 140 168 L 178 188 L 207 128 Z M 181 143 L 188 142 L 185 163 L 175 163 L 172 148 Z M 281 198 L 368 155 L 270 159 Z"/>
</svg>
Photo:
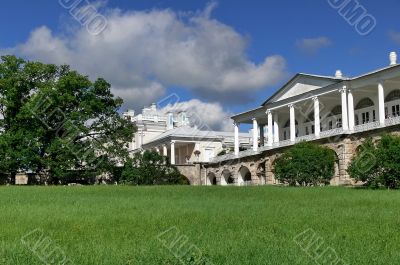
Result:
<svg viewBox="0 0 400 265">
<path fill-rule="evenodd" d="M 313 141 L 337 154 L 332 184 L 354 184 L 347 166 L 362 140 L 400 131 L 397 54 L 390 53 L 387 67 L 356 77 L 346 77 L 340 70 L 334 76 L 297 74 L 260 107 L 232 119 L 234 153 L 207 164 L 201 183 L 275 184 L 275 158 L 288 146 Z M 246 151 L 240 151 L 242 124 L 253 127 L 252 148 Z"/>
</svg>

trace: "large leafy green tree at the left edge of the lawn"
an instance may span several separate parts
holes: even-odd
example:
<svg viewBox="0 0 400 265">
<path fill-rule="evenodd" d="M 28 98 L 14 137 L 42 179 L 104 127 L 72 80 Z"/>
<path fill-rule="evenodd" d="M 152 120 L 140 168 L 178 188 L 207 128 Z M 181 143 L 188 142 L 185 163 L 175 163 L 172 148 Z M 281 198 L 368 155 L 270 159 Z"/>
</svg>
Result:
<svg viewBox="0 0 400 265">
<path fill-rule="evenodd" d="M 93 179 L 128 158 L 134 126 L 104 79 L 68 66 L 0 61 L 0 172 L 33 171 L 50 183 Z"/>
</svg>

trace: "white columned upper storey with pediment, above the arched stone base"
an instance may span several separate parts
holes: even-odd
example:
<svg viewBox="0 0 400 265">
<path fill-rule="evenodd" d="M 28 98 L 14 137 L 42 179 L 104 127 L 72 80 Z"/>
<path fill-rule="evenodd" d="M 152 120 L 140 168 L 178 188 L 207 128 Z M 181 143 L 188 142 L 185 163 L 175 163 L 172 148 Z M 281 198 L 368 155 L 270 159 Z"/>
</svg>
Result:
<svg viewBox="0 0 400 265">
<path fill-rule="evenodd" d="M 390 65 L 354 78 L 338 70 L 335 76 L 297 74 L 260 107 L 235 115 L 235 135 L 240 124 L 254 131 L 267 127 L 267 140 L 253 141 L 252 153 L 341 134 L 400 124 L 400 65 L 390 54 Z M 259 134 L 261 135 L 261 133 Z M 213 162 L 232 159 L 219 157 Z"/>
</svg>

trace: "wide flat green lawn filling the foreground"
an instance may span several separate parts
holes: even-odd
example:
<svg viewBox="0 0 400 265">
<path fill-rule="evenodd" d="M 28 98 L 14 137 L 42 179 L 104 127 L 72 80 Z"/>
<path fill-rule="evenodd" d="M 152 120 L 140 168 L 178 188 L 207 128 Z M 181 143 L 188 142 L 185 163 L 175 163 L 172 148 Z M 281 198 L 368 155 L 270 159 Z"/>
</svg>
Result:
<svg viewBox="0 0 400 265">
<path fill-rule="evenodd" d="M 163 245 L 172 232 L 209 264 L 316 264 L 310 256 L 324 250 L 340 264 L 400 262 L 398 191 L 0 187 L 0 215 L 0 264 L 43 264 L 62 252 L 73 264 L 181 264 L 178 248 Z M 293 240 L 307 229 L 319 248 Z"/>
</svg>

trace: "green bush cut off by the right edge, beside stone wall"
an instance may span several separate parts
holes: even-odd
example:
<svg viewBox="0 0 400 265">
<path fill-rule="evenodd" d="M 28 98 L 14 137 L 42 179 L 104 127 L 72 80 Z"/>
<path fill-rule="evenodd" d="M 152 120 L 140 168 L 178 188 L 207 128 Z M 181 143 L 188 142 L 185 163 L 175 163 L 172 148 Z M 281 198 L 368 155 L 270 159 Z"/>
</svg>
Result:
<svg viewBox="0 0 400 265">
<path fill-rule="evenodd" d="M 366 139 L 348 168 L 350 176 L 367 186 L 399 188 L 400 137 L 383 135 L 377 144 Z"/>
</svg>

